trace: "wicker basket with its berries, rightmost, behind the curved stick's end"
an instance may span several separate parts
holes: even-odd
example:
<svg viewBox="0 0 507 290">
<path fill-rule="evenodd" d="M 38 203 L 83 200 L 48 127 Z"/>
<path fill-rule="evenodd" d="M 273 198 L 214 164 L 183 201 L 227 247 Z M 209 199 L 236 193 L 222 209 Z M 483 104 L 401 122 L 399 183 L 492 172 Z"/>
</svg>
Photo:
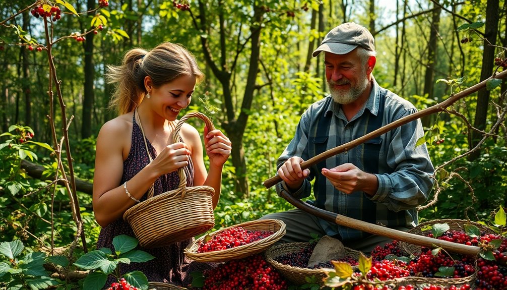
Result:
<svg viewBox="0 0 507 290">
<path fill-rule="evenodd" d="M 437 238 L 440 240 L 465 244 L 479 245 L 479 237 L 484 234 L 492 234 L 494 231 L 482 224 L 456 219 L 433 220 L 419 224 L 408 231 L 411 234 Z M 421 252 L 421 246 L 400 241 L 400 248 L 407 255 Z"/>
</svg>

